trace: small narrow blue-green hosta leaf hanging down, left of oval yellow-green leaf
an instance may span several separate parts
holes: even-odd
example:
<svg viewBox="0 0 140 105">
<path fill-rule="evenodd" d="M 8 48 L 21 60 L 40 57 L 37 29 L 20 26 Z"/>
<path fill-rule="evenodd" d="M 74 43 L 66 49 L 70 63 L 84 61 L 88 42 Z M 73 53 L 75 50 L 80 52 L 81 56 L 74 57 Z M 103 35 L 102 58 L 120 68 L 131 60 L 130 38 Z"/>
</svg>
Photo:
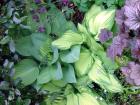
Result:
<svg viewBox="0 0 140 105">
<path fill-rule="evenodd" d="M 67 83 L 76 83 L 75 72 L 72 65 L 68 64 L 68 67 L 65 67 L 63 69 L 63 76 L 64 76 L 64 80 Z"/>
</svg>

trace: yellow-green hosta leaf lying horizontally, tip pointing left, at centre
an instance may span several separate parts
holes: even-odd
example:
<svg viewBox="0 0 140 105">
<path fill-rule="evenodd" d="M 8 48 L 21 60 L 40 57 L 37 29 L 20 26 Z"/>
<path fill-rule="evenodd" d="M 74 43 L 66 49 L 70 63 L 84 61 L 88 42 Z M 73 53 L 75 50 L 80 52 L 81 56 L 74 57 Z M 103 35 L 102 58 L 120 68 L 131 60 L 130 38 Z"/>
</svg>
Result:
<svg viewBox="0 0 140 105">
<path fill-rule="evenodd" d="M 73 45 L 82 44 L 85 40 L 86 39 L 83 34 L 78 34 L 76 32 L 69 30 L 65 32 L 62 37 L 53 41 L 52 45 L 61 50 L 66 50 Z"/>
</svg>

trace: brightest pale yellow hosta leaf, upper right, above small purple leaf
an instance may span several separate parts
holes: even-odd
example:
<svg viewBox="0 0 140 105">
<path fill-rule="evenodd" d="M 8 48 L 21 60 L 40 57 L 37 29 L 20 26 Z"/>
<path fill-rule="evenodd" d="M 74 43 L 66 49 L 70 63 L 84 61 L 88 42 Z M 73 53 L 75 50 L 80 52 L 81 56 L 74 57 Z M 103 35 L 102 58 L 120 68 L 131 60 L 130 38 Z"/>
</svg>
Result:
<svg viewBox="0 0 140 105">
<path fill-rule="evenodd" d="M 111 30 L 114 24 L 115 10 L 104 10 L 97 14 L 95 19 L 89 22 L 89 30 L 93 35 L 98 35 L 100 30 L 106 28 Z"/>
</svg>

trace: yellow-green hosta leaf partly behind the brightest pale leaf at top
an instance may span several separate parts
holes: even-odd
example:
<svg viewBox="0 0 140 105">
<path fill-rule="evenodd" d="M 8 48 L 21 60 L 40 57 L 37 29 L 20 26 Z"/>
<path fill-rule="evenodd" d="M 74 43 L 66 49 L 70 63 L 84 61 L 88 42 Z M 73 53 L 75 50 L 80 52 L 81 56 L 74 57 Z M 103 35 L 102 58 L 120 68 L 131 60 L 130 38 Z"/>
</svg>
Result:
<svg viewBox="0 0 140 105">
<path fill-rule="evenodd" d="M 86 26 L 89 26 L 90 23 L 94 21 L 96 15 L 100 12 L 101 12 L 101 7 L 97 5 L 93 5 L 85 15 L 84 22 L 86 23 Z"/>
</svg>

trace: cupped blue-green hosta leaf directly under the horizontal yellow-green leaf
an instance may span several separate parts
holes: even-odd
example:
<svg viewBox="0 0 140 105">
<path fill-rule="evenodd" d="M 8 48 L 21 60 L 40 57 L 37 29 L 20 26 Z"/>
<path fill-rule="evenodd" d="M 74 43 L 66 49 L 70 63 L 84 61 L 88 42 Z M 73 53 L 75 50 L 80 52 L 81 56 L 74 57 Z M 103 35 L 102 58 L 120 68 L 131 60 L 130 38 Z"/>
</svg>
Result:
<svg viewBox="0 0 140 105">
<path fill-rule="evenodd" d="M 80 45 L 72 46 L 71 51 L 63 51 L 60 53 L 60 58 L 65 63 L 74 63 L 80 56 Z"/>
</svg>

